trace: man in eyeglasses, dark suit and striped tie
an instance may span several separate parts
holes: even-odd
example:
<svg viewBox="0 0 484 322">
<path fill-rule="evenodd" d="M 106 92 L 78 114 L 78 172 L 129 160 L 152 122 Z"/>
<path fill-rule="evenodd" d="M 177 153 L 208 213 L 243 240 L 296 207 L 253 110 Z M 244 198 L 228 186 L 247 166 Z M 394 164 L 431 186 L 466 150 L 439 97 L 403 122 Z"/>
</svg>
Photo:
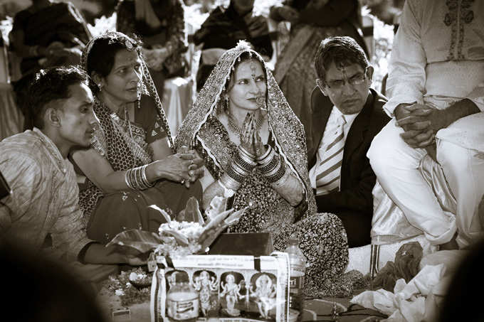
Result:
<svg viewBox="0 0 484 322">
<path fill-rule="evenodd" d="M 315 143 L 307 146 L 307 168 L 317 211 L 342 220 L 349 247 L 369 245 L 376 177 L 366 155 L 390 120 L 382 109 L 386 97 L 370 88 L 373 67 L 353 38 L 323 40 L 315 68 L 312 123 L 305 126 Z"/>
</svg>

